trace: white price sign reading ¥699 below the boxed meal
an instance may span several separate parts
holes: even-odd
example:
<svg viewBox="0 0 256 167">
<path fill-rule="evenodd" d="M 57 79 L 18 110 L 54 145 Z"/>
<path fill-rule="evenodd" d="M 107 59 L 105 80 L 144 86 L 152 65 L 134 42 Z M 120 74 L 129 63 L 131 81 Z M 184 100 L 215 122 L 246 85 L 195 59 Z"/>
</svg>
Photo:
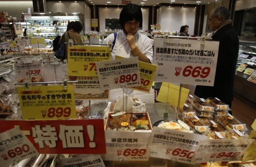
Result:
<svg viewBox="0 0 256 167">
<path fill-rule="evenodd" d="M 148 161 L 146 149 L 150 132 L 106 130 L 107 154 L 101 155 L 105 161 Z"/>
</svg>

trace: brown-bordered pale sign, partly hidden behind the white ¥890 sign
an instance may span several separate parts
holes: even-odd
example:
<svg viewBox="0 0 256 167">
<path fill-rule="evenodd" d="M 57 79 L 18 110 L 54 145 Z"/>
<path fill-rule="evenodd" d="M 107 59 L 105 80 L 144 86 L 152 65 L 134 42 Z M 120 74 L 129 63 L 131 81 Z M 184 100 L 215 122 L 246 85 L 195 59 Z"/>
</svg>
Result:
<svg viewBox="0 0 256 167">
<path fill-rule="evenodd" d="M 75 99 L 108 99 L 108 90 L 100 89 L 100 82 L 97 76 L 69 76 L 70 81 L 78 81 L 74 84 Z"/>
</svg>

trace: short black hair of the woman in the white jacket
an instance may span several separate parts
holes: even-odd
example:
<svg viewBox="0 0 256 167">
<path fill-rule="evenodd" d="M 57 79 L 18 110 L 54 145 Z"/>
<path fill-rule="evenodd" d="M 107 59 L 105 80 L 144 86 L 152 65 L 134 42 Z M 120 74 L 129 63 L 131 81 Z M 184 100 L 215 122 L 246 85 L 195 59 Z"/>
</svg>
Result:
<svg viewBox="0 0 256 167">
<path fill-rule="evenodd" d="M 122 9 L 120 16 L 119 16 L 119 22 L 122 28 L 124 28 L 124 23 L 126 21 L 132 21 L 135 19 L 136 21 L 140 22 L 139 27 L 142 27 L 142 11 L 140 7 L 136 4 L 127 4 Z"/>
</svg>

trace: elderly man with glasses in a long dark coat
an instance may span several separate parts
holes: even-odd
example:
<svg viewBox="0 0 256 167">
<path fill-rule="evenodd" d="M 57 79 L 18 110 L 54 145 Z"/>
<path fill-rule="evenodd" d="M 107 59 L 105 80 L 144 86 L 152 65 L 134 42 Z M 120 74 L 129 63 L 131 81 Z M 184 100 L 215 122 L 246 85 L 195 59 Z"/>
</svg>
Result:
<svg viewBox="0 0 256 167">
<path fill-rule="evenodd" d="M 215 81 L 213 87 L 197 85 L 195 95 L 200 98 L 216 97 L 231 107 L 239 40 L 229 17 L 230 12 L 224 6 L 219 6 L 210 13 L 212 40 L 220 41 Z"/>
</svg>

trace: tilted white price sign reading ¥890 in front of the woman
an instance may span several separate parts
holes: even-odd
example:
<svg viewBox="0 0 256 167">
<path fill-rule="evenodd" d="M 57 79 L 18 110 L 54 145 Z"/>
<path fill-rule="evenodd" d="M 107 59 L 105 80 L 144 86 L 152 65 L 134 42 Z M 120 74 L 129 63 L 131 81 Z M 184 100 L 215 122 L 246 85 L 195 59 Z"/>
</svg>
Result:
<svg viewBox="0 0 256 167">
<path fill-rule="evenodd" d="M 138 57 L 97 62 L 96 66 L 101 90 L 141 85 Z"/>
</svg>

